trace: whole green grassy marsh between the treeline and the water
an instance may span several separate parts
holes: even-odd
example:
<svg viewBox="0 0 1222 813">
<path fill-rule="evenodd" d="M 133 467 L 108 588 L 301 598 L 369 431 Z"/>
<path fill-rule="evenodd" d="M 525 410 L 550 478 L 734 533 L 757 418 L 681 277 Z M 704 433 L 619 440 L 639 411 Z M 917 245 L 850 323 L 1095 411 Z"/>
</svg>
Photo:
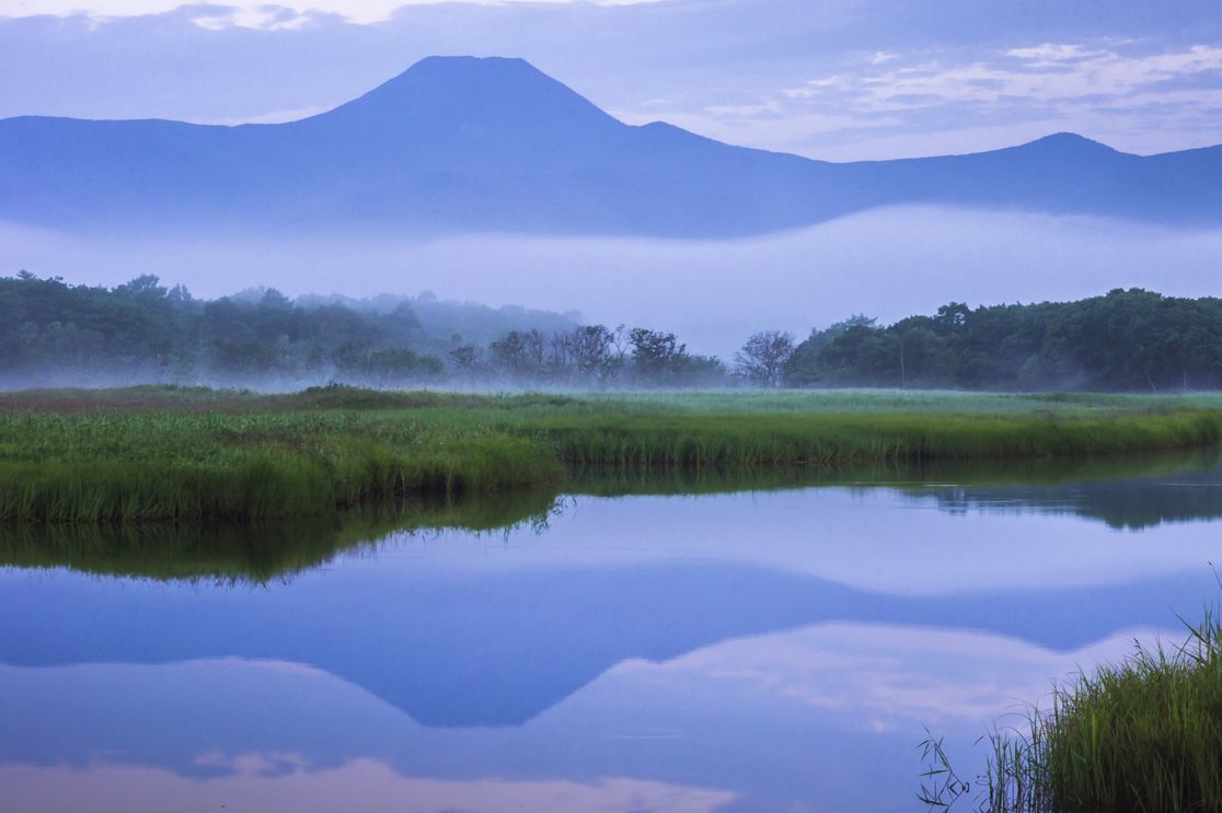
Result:
<svg viewBox="0 0 1222 813">
<path fill-rule="evenodd" d="M 1222 397 L 472 396 L 178 387 L 0 397 L 0 521 L 262 521 L 590 471 L 1129 455 L 1222 443 Z"/>
</svg>

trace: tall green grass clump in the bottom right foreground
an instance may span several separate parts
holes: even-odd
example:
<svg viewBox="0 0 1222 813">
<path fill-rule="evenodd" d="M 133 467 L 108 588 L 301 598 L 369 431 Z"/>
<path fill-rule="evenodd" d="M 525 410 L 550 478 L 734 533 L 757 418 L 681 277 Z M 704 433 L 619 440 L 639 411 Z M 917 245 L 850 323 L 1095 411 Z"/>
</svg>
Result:
<svg viewBox="0 0 1222 813">
<path fill-rule="evenodd" d="M 926 741 L 934 784 L 923 800 L 937 808 L 971 801 L 987 813 L 1222 811 L 1218 616 L 1206 613 L 1179 646 L 1138 647 L 1057 686 L 1048 712 L 987 742 L 987 770 L 970 782 L 940 741 Z"/>
</svg>

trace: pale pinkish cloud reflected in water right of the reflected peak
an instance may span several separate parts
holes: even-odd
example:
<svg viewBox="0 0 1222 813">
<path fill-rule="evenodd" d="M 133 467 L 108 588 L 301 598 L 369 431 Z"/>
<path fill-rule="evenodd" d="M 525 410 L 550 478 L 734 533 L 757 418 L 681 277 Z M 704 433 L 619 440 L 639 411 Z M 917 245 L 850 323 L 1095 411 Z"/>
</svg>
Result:
<svg viewBox="0 0 1222 813">
<path fill-rule="evenodd" d="M 973 631 L 837 623 L 727 641 L 662 664 L 631 662 L 611 679 L 648 676 L 715 697 L 769 695 L 881 734 L 913 724 L 974 725 L 1020 702 L 1046 704 L 1052 681 L 1080 664 L 1117 662 L 1135 638 L 1156 637 L 1125 630 L 1062 653 Z"/>
</svg>

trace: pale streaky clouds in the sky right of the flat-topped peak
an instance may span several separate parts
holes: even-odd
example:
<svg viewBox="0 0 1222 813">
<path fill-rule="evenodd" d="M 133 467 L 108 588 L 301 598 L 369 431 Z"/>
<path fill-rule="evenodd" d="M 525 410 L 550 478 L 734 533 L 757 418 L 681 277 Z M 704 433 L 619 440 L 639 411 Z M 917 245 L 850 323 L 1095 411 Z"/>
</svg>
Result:
<svg viewBox="0 0 1222 813">
<path fill-rule="evenodd" d="M 903 140 L 891 137 L 967 129 L 980 136 L 987 127 L 996 136 L 973 149 L 1008 146 L 1019 140 L 1015 132 L 1064 129 L 1136 153 L 1222 140 L 1222 46 L 1136 49 L 1127 42 L 1050 42 L 986 52 L 858 54 L 798 84 L 737 105 L 676 111 L 673 118 L 717 138 L 819 157 L 890 157 L 890 143 Z M 831 143 L 827 136 L 854 143 L 836 155 L 820 149 Z M 874 155 L 864 139 L 888 146 Z M 909 154 L 948 151 L 934 142 Z"/>
</svg>

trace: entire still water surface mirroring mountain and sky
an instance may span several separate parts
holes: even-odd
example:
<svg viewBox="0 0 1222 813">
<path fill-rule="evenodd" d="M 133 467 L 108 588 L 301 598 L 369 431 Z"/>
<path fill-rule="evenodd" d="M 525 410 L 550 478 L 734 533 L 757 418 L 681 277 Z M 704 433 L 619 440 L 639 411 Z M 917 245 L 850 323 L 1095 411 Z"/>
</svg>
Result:
<svg viewBox="0 0 1222 813">
<path fill-rule="evenodd" d="M 10 533 L 0 809 L 918 811 L 925 726 L 1176 638 L 1220 520 L 1155 461 Z"/>
</svg>

